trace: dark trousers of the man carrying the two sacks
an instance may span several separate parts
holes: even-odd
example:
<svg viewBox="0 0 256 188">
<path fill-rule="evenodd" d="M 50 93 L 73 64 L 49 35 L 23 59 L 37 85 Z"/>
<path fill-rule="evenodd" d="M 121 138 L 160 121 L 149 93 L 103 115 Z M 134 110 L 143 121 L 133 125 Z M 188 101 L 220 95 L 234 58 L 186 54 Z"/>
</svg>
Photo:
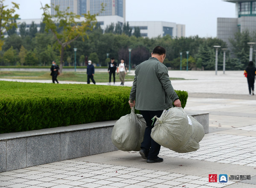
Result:
<svg viewBox="0 0 256 188">
<path fill-rule="evenodd" d="M 154 123 L 157 119 L 154 119 L 154 123 L 152 125 L 152 118 L 154 116 L 157 116 L 158 118 L 162 115 L 163 110 L 159 111 L 146 111 L 146 110 L 140 110 L 141 115 L 146 121 L 147 127 L 145 129 L 144 133 L 144 140 L 141 143 L 140 148 L 145 150 L 148 153 L 148 159 L 157 159 L 157 156 L 160 152 L 161 145 L 157 144 L 153 139 L 151 139 L 151 130 L 154 127 Z M 150 149 L 150 150 L 149 150 Z"/>
</svg>

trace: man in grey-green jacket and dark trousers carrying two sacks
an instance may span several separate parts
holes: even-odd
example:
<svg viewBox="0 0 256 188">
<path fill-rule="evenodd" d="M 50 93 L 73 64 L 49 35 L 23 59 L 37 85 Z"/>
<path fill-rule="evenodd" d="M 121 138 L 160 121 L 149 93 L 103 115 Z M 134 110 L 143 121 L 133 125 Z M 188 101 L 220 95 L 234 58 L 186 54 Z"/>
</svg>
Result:
<svg viewBox="0 0 256 188">
<path fill-rule="evenodd" d="M 163 64 L 166 57 L 166 49 L 156 46 L 151 53 L 151 58 L 139 64 L 135 70 L 135 77 L 129 98 L 130 107 L 140 110 L 146 121 L 144 139 L 140 145 L 140 155 L 147 159 L 148 163 L 163 162 L 158 157 L 160 145 L 151 138 L 151 130 L 156 119 L 163 110 L 172 107 L 172 101 L 176 107 L 181 107 L 181 102 L 172 87 L 168 69 Z M 135 106 L 136 98 L 136 106 Z"/>
</svg>

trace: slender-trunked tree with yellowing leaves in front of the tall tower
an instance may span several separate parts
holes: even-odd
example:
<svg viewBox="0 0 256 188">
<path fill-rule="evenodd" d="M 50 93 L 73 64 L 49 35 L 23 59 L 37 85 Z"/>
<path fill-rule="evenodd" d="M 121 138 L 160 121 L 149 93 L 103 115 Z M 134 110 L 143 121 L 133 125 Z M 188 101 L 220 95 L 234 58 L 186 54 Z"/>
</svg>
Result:
<svg viewBox="0 0 256 188">
<path fill-rule="evenodd" d="M 42 7 L 42 9 L 44 10 L 43 23 L 45 23 L 45 31 L 52 32 L 60 51 L 60 72 L 62 72 L 65 47 L 69 47 L 70 43 L 79 38 L 79 36 L 81 36 L 83 40 L 84 36 L 88 36 L 86 31 L 92 30 L 93 26 L 96 24 L 96 14 L 83 14 L 84 20 L 80 20 L 80 15 L 76 15 L 73 12 L 69 13 L 68 9 L 62 12 L 59 10 L 59 6 L 54 7 L 55 15 L 50 14 L 50 6 L 48 4 Z M 56 23 L 59 23 L 58 26 L 54 20 Z M 63 29 L 61 33 L 58 33 L 59 28 Z"/>
</svg>

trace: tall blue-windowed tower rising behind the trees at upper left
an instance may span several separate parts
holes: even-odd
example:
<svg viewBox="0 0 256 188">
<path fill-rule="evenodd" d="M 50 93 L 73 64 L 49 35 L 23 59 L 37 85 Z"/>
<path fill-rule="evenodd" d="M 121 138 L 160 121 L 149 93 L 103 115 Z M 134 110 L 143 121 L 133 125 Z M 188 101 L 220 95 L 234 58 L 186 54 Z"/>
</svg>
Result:
<svg viewBox="0 0 256 188">
<path fill-rule="evenodd" d="M 75 14 L 99 14 L 99 16 L 119 16 L 125 20 L 125 0 L 51 0 L 51 5 L 58 5 L 61 11 L 68 7 L 69 11 Z M 101 12 L 102 5 L 105 11 Z M 54 8 L 51 8 L 51 14 L 55 15 Z"/>
</svg>

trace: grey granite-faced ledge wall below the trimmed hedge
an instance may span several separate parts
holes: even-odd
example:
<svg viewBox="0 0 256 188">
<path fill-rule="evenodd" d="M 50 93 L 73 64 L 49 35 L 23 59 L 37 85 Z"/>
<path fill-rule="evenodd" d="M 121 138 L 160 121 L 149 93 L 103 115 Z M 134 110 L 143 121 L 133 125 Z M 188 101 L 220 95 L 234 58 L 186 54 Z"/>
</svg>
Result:
<svg viewBox="0 0 256 188">
<path fill-rule="evenodd" d="M 209 113 L 186 113 L 209 132 Z M 0 134 L 0 172 L 118 150 L 111 142 L 115 122 Z"/>
</svg>

